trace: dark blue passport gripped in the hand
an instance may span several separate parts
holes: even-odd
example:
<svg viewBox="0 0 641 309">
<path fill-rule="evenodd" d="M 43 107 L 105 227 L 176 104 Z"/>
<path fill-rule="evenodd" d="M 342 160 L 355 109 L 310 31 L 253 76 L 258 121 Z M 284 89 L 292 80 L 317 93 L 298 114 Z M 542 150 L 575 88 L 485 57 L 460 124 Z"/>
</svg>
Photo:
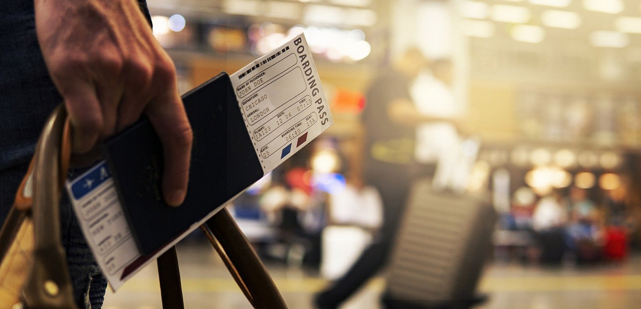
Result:
<svg viewBox="0 0 641 309">
<path fill-rule="evenodd" d="M 194 144 L 182 206 L 163 202 L 162 145 L 148 119 L 102 145 L 125 216 L 144 254 L 171 242 L 263 177 L 226 73 L 184 94 L 183 103 Z"/>
</svg>

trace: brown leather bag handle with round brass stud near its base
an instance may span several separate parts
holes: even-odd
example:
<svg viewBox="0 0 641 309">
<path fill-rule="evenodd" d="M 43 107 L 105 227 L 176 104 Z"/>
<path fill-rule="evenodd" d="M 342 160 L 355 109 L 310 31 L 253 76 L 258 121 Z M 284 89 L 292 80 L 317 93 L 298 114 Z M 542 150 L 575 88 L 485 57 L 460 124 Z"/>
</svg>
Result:
<svg viewBox="0 0 641 309">
<path fill-rule="evenodd" d="M 65 130 L 65 123 L 67 112 L 60 105 L 42 130 L 33 161 L 35 247 L 33 264 L 22 288 L 22 301 L 27 308 L 77 308 L 60 240 L 61 180 L 67 175 L 62 166 L 68 166 L 67 154 L 71 154 L 71 132 Z M 65 131 L 67 135 L 63 137 Z M 67 162 L 61 161 L 61 154 Z"/>
</svg>

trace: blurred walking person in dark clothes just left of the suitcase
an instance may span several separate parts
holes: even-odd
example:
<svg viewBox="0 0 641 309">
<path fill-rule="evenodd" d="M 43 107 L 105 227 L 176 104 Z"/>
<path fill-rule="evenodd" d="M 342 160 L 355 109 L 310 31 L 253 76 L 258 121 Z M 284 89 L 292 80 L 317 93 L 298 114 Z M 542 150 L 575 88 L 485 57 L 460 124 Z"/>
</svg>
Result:
<svg viewBox="0 0 641 309">
<path fill-rule="evenodd" d="M 318 308 L 337 308 L 388 260 L 410 186 L 415 180 L 412 167 L 416 126 L 425 121 L 445 120 L 422 114 L 412 101 L 412 82 L 427 64 L 427 58 L 418 48 L 408 48 L 394 59 L 392 66 L 381 69 L 365 93 L 363 180 L 379 191 L 383 224 L 347 273 L 315 296 Z"/>
</svg>

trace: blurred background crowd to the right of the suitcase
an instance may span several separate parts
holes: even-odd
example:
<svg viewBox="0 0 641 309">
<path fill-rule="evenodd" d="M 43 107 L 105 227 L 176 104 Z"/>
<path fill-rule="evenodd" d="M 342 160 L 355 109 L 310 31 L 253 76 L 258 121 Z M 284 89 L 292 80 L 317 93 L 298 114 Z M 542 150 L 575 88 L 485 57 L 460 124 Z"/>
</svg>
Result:
<svg viewBox="0 0 641 309">
<path fill-rule="evenodd" d="M 595 263 L 628 256 L 635 220 L 626 188 L 595 193 L 572 186 L 537 197 L 529 188 L 514 194 L 501 221 L 499 249 L 521 247 L 520 258 L 533 263 Z M 501 248 L 502 247 L 502 248 Z"/>
</svg>

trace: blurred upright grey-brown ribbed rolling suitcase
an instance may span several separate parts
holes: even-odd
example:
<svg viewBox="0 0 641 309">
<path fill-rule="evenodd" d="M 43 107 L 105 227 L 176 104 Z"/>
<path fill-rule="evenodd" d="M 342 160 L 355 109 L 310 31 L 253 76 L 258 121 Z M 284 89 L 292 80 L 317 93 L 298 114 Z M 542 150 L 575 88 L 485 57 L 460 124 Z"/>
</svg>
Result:
<svg viewBox="0 0 641 309">
<path fill-rule="evenodd" d="M 390 260 L 387 308 L 469 308 L 492 247 L 494 208 L 469 195 L 412 188 Z"/>
</svg>

